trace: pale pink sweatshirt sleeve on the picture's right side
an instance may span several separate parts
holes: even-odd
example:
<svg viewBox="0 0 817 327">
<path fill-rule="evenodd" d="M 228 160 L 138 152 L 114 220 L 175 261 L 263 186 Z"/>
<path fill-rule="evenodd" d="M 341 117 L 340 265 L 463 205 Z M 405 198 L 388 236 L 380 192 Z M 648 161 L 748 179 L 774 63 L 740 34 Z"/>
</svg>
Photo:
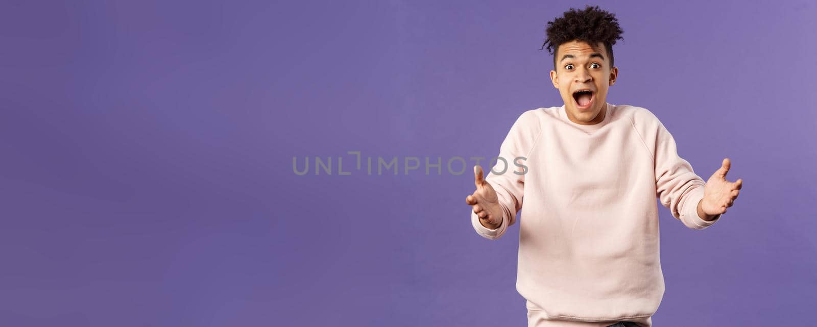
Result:
<svg viewBox="0 0 817 327">
<path fill-rule="evenodd" d="M 653 116 L 654 117 L 654 116 Z M 687 228 L 703 229 L 721 218 L 718 214 L 710 221 L 698 215 L 698 202 L 703 199 L 706 182 L 694 173 L 690 162 L 678 156 L 675 139 L 654 117 L 655 130 L 655 187 L 661 204 Z"/>
</svg>

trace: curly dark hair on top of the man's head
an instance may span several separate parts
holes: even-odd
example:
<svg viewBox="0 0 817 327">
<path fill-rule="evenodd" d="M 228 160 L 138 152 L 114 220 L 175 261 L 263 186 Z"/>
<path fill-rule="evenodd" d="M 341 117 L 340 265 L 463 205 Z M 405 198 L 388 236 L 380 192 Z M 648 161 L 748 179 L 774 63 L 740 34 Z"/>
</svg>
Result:
<svg viewBox="0 0 817 327">
<path fill-rule="evenodd" d="M 598 42 L 604 43 L 607 56 L 610 58 L 610 67 L 613 64 L 613 45 L 616 40 L 623 40 L 624 31 L 618 26 L 615 14 L 600 10 L 598 6 L 587 6 L 583 10 L 570 8 L 561 17 L 547 22 L 547 39 L 542 48 L 547 47 L 547 53 L 553 50 L 553 67 L 556 68 L 556 51 L 562 43 L 583 41 L 592 46 Z M 542 50 L 542 49 L 539 49 Z"/>
</svg>

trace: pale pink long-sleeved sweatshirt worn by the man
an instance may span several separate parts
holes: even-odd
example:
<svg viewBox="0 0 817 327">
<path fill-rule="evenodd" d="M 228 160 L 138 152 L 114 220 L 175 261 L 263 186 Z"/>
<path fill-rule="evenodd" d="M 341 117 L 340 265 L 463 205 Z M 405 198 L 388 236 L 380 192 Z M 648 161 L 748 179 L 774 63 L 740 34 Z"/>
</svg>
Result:
<svg viewBox="0 0 817 327">
<path fill-rule="evenodd" d="M 652 325 L 664 293 L 655 198 L 688 228 L 721 217 L 699 217 L 705 183 L 645 108 L 606 104 L 603 122 L 588 126 L 570 121 L 564 106 L 529 110 L 499 157 L 507 171 L 485 180 L 497 191 L 502 225 L 485 228 L 473 212 L 471 224 L 495 240 L 524 209 L 516 289 L 536 326 Z M 525 175 L 513 174 L 524 172 L 511 164 L 516 157 L 527 158 Z"/>
</svg>

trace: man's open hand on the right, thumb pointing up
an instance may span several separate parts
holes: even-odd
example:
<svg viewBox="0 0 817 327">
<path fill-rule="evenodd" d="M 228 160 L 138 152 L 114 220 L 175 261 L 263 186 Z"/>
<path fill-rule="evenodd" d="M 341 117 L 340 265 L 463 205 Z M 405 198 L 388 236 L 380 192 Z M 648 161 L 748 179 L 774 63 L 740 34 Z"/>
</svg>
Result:
<svg viewBox="0 0 817 327">
<path fill-rule="evenodd" d="M 730 166 L 729 158 L 725 158 L 721 163 L 721 169 L 712 174 L 703 188 L 703 200 L 698 203 L 698 215 L 704 220 L 712 220 L 718 214 L 725 214 L 726 208 L 732 206 L 734 199 L 740 194 L 743 179 L 738 179 L 734 183 L 726 180 Z"/>
</svg>

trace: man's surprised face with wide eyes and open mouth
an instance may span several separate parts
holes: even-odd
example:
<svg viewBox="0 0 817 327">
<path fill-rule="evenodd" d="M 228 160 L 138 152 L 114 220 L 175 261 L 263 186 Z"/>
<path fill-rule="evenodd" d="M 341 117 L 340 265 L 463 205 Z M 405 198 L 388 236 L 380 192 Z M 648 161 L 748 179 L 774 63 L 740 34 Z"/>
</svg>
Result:
<svg viewBox="0 0 817 327">
<path fill-rule="evenodd" d="M 604 43 L 565 42 L 554 55 L 556 70 L 551 70 L 551 82 L 565 101 L 568 118 L 582 125 L 604 120 L 607 89 L 618 76 L 618 68 L 609 64 Z"/>
</svg>

